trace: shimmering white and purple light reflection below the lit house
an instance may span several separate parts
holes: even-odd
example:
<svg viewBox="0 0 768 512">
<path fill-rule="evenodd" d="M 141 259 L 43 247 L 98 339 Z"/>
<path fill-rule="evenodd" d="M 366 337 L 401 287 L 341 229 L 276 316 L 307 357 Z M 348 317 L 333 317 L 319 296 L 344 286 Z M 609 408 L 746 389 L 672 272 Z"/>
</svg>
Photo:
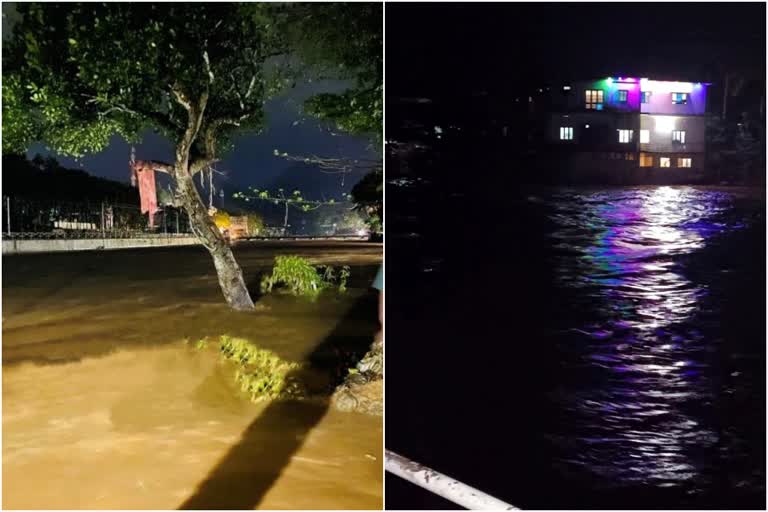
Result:
<svg viewBox="0 0 768 512">
<path fill-rule="evenodd" d="M 566 465 L 617 485 L 690 487 L 695 479 L 698 488 L 707 478 L 712 458 L 701 455 L 718 443 L 702 414 L 715 399 L 706 357 L 713 341 L 694 315 L 708 290 L 681 272 L 679 257 L 740 226 L 724 215 L 729 201 L 670 187 L 553 198 L 557 285 L 577 289 L 591 311 L 568 336 L 571 369 L 591 378 L 557 397 L 570 423 L 559 436 L 569 445 Z"/>
</svg>

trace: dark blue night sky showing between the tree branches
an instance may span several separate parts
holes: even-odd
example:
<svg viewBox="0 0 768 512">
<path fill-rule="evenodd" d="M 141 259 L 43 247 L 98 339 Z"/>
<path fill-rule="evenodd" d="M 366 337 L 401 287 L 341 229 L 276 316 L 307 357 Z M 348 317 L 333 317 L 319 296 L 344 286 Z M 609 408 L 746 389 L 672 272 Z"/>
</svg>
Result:
<svg viewBox="0 0 768 512">
<path fill-rule="evenodd" d="M 3 3 L 3 39 L 8 37 L 15 18 L 12 3 Z M 225 191 L 255 186 L 271 187 L 276 183 L 290 181 L 292 186 L 302 188 L 306 197 L 338 197 L 348 192 L 365 171 L 347 176 L 342 188 L 338 175 L 324 174 L 317 169 L 306 168 L 273 156 L 274 149 L 295 155 L 317 155 L 321 157 L 380 158 L 380 150 L 364 137 L 352 137 L 337 133 L 332 127 L 319 123 L 301 114 L 304 99 L 318 92 L 333 92 L 344 88 L 343 82 L 317 82 L 303 84 L 286 94 L 267 102 L 267 127 L 258 136 L 241 137 L 236 141 L 235 150 L 227 155 L 217 169 L 227 173 L 220 182 Z M 49 154 L 45 147 L 36 144 L 29 155 Z M 86 156 L 80 160 L 59 157 L 63 165 L 86 170 L 91 174 L 119 181 L 128 181 L 130 173 L 128 160 L 130 146 L 121 138 L 114 137 L 111 145 L 101 153 Z M 141 144 L 136 145 L 136 157 L 171 162 L 173 149 L 164 138 L 148 132 Z M 304 181 L 303 175 L 307 179 Z M 311 188 L 311 189 L 310 189 Z"/>
</svg>

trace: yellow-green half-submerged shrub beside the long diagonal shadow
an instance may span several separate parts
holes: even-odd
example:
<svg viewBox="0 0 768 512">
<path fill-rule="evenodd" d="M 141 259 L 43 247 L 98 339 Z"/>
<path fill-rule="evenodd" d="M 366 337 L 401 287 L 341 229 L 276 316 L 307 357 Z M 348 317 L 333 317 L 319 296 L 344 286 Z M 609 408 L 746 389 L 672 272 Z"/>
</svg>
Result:
<svg viewBox="0 0 768 512">
<path fill-rule="evenodd" d="M 300 364 L 281 359 L 270 350 L 259 348 L 244 338 L 221 336 L 221 355 L 239 366 L 235 380 L 254 402 L 299 394 L 298 383 L 289 374 Z"/>
</svg>

